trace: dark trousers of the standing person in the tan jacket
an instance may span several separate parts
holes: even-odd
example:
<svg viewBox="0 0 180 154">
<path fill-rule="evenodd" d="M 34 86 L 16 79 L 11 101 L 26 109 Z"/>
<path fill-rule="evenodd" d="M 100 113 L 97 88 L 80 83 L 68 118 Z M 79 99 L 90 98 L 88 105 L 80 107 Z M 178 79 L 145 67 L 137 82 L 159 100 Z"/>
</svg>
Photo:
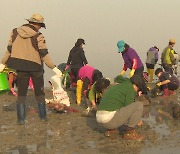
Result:
<svg viewBox="0 0 180 154">
<path fill-rule="evenodd" d="M 39 103 L 45 102 L 43 71 L 38 71 L 38 72 L 17 71 L 17 87 L 18 87 L 17 103 L 25 103 L 30 77 L 32 78 L 33 81 L 36 100 Z"/>
</svg>

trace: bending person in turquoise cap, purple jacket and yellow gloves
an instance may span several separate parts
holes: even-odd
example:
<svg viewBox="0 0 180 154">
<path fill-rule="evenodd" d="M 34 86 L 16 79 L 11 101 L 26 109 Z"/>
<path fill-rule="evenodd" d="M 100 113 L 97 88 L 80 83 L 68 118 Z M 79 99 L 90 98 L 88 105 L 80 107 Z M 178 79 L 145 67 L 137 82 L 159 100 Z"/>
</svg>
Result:
<svg viewBox="0 0 180 154">
<path fill-rule="evenodd" d="M 118 41 L 117 43 L 118 53 L 122 53 L 122 58 L 124 60 L 124 67 L 121 71 L 121 75 L 124 75 L 127 69 L 129 68 L 131 71 L 129 73 L 129 77 L 131 78 L 133 75 L 139 75 L 144 84 L 144 89 L 142 89 L 143 94 L 147 94 L 148 88 L 146 87 L 143 71 L 144 65 L 138 56 L 137 52 L 131 48 L 127 43 L 123 40 Z"/>
</svg>

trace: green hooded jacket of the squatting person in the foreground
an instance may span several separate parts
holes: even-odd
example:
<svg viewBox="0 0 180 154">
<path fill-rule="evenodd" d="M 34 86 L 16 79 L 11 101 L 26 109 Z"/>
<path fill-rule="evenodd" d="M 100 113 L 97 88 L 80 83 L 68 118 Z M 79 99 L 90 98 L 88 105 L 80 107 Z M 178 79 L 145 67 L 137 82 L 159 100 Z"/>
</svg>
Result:
<svg viewBox="0 0 180 154">
<path fill-rule="evenodd" d="M 128 78 L 116 77 L 118 84 L 110 86 L 103 94 L 98 111 L 116 111 L 134 102 L 136 91 Z"/>
</svg>

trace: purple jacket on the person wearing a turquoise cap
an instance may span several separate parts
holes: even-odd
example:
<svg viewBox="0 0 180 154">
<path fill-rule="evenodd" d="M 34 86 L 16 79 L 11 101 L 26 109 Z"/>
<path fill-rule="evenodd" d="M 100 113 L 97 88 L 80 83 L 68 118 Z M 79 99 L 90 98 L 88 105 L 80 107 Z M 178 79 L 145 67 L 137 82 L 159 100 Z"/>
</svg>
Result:
<svg viewBox="0 0 180 154">
<path fill-rule="evenodd" d="M 137 68 L 143 67 L 143 63 L 139 58 L 137 52 L 132 48 L 128 48 L 126 52 L 122 53 L 122 57 L 124 59 L 124 64 L 129 69 L 132 69 L 133 59 L 137 60 Z"/>
</svg>

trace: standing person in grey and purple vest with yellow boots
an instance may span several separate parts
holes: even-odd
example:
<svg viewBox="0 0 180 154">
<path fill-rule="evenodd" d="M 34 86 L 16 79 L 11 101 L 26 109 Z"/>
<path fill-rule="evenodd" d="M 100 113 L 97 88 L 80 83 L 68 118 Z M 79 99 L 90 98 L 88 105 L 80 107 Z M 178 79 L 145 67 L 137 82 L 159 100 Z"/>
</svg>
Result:
<svg viewBox="0 0 180 154">
<path fill-rule="evenodd" d="M 156 46 L 151 47 L 147 52 L 146 68 L 149 76 L 149 83 L 152 83 L 154 76 L 154 67 L 158 61 L 159 48 Z"/>
</svg>

